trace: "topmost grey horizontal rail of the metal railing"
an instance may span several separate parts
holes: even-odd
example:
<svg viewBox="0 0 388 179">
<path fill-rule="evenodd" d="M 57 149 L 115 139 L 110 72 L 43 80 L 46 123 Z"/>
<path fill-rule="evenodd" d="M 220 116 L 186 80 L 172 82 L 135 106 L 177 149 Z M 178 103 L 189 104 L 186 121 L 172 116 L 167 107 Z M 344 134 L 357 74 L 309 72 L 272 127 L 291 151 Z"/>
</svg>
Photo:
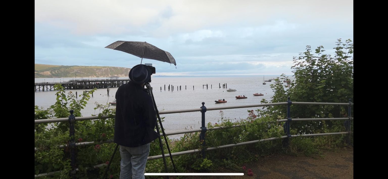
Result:
<svg viewBox="0 0 388 179">
<path fill-rule="evenodd" d="M 287 105 L 288 102 L 280 103 L 265 103 L 265 104 L 256 104 L 256 105 L 239 105 L 239 106 L 226 106 L 226 107 L 212 107 L 207 108 L 207 110 L 223 110 L 223 109 L 234 109 L 234 108 L 249 108 L 249 107 L 262 107 L 262 106 L 275 106 L 275 105 Z M 293 105 L 349 105 L 349 103 L 315 103 L 315 102 L 292 102 Z M 352 103 L 353 105 L 353 103 Z M 159 114 L 174 114 L 174 113 L 183 113 L 183 112 L 197 112 L 201 111 L 201 108 L 197 109 L 184 109 L 184 110 L 170 110 L 170 111 L 160 111 Z M 109 119 L 114 118 L 115 115 L 103 115 L 101 117 L 88 116 L 88 117 L 76 117 L 76 120 L 94 120 L 94 119 Z M 55 119 L 37 119 L 35 124 L 50 123 L 50 122 L 66 122 L 69 118 L 55 118 Z"/>
</svg>

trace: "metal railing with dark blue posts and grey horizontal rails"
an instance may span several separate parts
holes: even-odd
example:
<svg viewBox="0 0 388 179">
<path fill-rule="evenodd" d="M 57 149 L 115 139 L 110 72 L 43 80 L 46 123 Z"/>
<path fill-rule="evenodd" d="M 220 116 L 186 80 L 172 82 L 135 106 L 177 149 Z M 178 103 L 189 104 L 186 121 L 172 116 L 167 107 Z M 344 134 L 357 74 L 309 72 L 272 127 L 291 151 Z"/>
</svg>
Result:
<svg viewBox="0 0 388 179">
<path fill-rule="evenodd" d="M 203 158 L 206 156 L 206 151 L 209 150 L 216 150 L 220 148 L 228 148 L 228 147 L 233 147 L 233 146 L 240 146 L 240 145 L 247 145 L 247 144 L 253 144 L 253 143 L 258 143 L 258 142 L 263 142 L 263 141 L 271 141 L 271 140 L 276 140 L 276 139 L 283 139 L 283 143 L 285 145 L 289 144 L 289 139 L 293 137 L 308 137 L 308 136 L 326 136 L 326 135 L 341 135 L 341 134 L 347 134 L 346 138 L 346 143 L 350 143 L 350 121 L 353 120 L 353 117 L 351 116 L 351 107 L 353 106 L 353 103 L 349 99 L 348 103 L 318 103 L 318 102 L 291 102 L 290 97 L 288 97 L 287 102 L 280 102 L 280 103 L 265 103 L 265 104 L 257 104 L 257 105 L 239 105 L 239 106 L 229 106 L 229 107 L 213 107 L 213 108 L 206 108 L 204 106 L 204 102 L 202 102 L 201 108 L 198 109 L 185 109 L 185 110 L 170 110 L 170 111 L 161 111 L 159 114 L 174 114 L 174 113 L 184 113 L 184 112 L 201 112 L 202 115 L 202 121 L 201 121 L 201 127 L 200 129 L 192 129 L 192 130 L 185 130 L 185 131 L 175 131 L 175 132 L 170 132 L 166 133 L 166 136 L 170 135 L 176 135 L 176 134 L 185 134 L 185 133 L 194 133 L 194 132 L 201 132 L 200 133 L 200 140 L 203 140 L 203 146 L 205 146 L 205 133 L 206 131 L 210 130 L 218 130 L 218 129 L 227 129 L 227 128 L 234 128 L 234 127 L 241 127 L 243 125 L 234 125 L 234 126 L 225 126 L 225 127 L 212 127 L 207 129 L 205 127 L 205 113 L 208 110 L 223 110 L 223 109 L 233 109 L 233 108 L 250 108 L 250 107 L 265 107 L 265 106 L 276 106 L 276 105 L 287 105 L 287 119 L 279 119 L 276 121 L 270 121 L 270 122 L 262 122 L 262 123 L 275 123 L 275 122 L 285 122 L 283 127 L 284 127 L 284 136 L 281 137 L 274 137 L 274 138 L 267 138 L 267 139 L 258 139 L 254 141 L 246 141 L 246 142 L 241 142 L 241 143 L 235 143 L 235 144 L 228 144 L 228 145 L 222 145 L 222 146 L 215 146 L 215 147 L 203 147 L 202 150 L 194 149 L 194 150 L 188 150 L 188 151 L 180 151 L 180 152 L 175 152 L 171 153 L 171 156 L 178 156 L 178 155 L 184 155 L 184 154 L 189 154 L 189 153 L 196 153 L 196 152 L 201 152 Z M 291 105 L 346 105 L 348 106 L 348 116 L 343 117 L 343 118 L 305 118 L 305 119 L 291 119 Z M 89 117 L 77 117 L 75 118 L 73 115 L 73 110 L 70 111 L 71 115 L 68 118 L 57 118 L 57 119 L 38 119 L 35 120 L 35 124 L 42 124 L 42 123 L 51 123 L 51 122 L 69 122 L 70 124 L 70 137 L 71 140 L 69 141 L 69 144 L 66 145 L 58 145 L 59 148 L 70 148 L 70 153 L 71 153 L 71 166 L 73 167 L 73 174 L 74 172 L 78 171 L 78 168 L 75 168 L 75 160 L 76 160 L 76 155 L 74 153 L 74 150 L 77 146 L 87 146 L 87 145 L 94 145 L 96 142 L 94 141 L 88 141 L 88 142 L 79 142 L 76 143 L 74 141 L 74 123 L 78 120 L 94 120 L 94 119 L 111 119 L 114 118 L 114 115 L 103 115 L 101 117 L 99 116 L 89 116 Z M 315 121 L 315 120 L 345 120 L 344 125 L 346 132 L 340 132 L 340 133 L 319 133 L 319 134 L 300 134 L 300 135 L 291 135 L 290 134 L 290 122 L 291 121 Z M 163 135 L 162 133 L 160 134 L 161 136 Z M 106 141 L 98 142 L 99 144 L 101 143 L 112 143 L 113 139 L 108 139 Z M 35 148 L 35 151 L 38 151 L 37 148 Z M 168 154 L 167 157 L 169 157 L 170 154 Z M 154 160 L 162 158 L 162 155 L 156 155 L 156 156 L 151 156 L 148 157 L 147 160 Z M 106 164 L 99 164 L 99 165 L 94 165 L 94 168 L 102 167 Z M 55 172 L 49 172 L 49 173 L 41 173 L 38 175 L 35 175 L 35 177 L 41 177 L 41 176 L 52 176 L 57 172 L 61 171 L 55 171 Z"/>
</svg>

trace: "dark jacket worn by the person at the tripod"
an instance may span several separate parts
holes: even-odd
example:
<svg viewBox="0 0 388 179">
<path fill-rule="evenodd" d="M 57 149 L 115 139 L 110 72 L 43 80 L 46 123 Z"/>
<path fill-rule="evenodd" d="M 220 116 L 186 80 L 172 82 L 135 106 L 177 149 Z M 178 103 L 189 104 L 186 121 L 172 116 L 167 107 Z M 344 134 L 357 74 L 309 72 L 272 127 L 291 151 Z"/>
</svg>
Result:
<svg viewBox="0 0 388 179">
<path fill-rule="evenodd" d="M 114 142 L 127 147 L 150 143 L 159 137 L 154 131 L 156 112 L 148 90 L 132 81 L 116 92 Z"/>
</svg>

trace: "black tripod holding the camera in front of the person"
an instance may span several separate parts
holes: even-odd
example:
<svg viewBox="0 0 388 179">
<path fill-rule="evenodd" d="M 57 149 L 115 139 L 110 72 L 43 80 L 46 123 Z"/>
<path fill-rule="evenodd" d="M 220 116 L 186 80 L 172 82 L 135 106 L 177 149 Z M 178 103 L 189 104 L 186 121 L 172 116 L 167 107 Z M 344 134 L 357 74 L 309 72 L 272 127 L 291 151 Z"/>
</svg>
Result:
<svg viewBox="0 0 388 179">
<path fill-rule="evenodd" d="M 149 80 L 149 82 L 151 82 L 151 79 Z M 155 102 L 155 99 L 154 99 L 154 94 L 152 93 L 152 87 L 149 84 L 149 82 L 145 83 L 145 86 L 147 87 L 147 90 L 149 91 L 149 95 L 152 98 L 154 110 L 156 112 L 156 116 L 158 117 L 160 128 L 162 129 L 163 137 L 165 138 L 168 154 L 170 154 L 170 159 L 171 159 L 172 165 L 174 167 L 174 171 L 175 171 L 175 173 L 177 173 L 177 169 L 175 168 L 174 160 L 173 160 L 172 155 L 171 155 L 170 146 L 168 146 L 168 141 L 167 141 L 166 133 L 165 133 L 165 130 L 163 129 L 162 120 L 160 119 L 160 116 L 159 116 L 159 110 L 158 110 L 158 107 L 156 107 L 156 102 Z M 160 147 L 160 150 L 162 152 L 163 164 L 165 165 L 166 173 L 168 173 L 167 164 L 166 164 L 166 157 L 165 157 L 165 151 L 163 150 L 163 143 L 162 143 L 162 139 L 160 137 L 158 122 L 156 122 L 156 132 L 159 134 L 159 147 Z M 113 154 L 111 156 L 111 159 L 109 160 L 108 166 L 106 167 L 106 170 L 105 170 L 104 176 L 102 176 L 102 179 L 104 179 L 106 177 L 107 171 L 109 170 L 109 166 L 111 165 L 111 162 L 113 160 L 114 154 L 117 151 L 118 146 L 119 145 L 117 144 L 115 149 L 114 149 L 114 151 L 113 151 Z M 169 176 L 167 176 L 167 178 L 170 179 Z"/>
</svg>

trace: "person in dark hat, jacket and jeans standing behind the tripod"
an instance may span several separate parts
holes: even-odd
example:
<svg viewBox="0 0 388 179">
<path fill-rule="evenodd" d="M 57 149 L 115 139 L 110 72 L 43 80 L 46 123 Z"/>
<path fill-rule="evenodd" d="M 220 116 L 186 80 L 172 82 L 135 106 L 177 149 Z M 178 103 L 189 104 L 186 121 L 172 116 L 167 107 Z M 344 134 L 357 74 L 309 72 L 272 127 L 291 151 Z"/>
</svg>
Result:
<svg viewBox="0 0 388 179">
<path fill-rule="evenodd" d="M 144 179 L 149 143 L 158 138 L 154 131 L 156 112 L 149 91 L 144 88 L 151 79 L 151 69 L 135 65 L 129 72 L 129 83 L 116 92 L 114 142 L 120 145 L 120 179 Z"/>
</svg>

